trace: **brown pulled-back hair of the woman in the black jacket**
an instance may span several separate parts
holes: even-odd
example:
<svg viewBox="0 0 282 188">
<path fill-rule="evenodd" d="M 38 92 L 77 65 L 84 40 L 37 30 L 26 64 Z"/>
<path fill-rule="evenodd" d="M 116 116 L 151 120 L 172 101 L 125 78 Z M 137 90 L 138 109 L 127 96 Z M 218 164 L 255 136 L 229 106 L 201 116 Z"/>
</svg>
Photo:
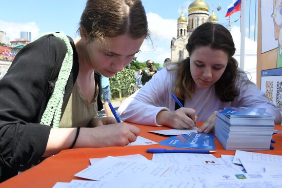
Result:
<svg viewBox="0 0 282 188">
<path fill-rule="evenodd" d="M 139 0 L 88 0 L 80 17 L 79 31 L 88 41 L 104 41 L 106 37 L 122 34 L 132 38 L 149 35 L 146 12 Z"/>
</svg>

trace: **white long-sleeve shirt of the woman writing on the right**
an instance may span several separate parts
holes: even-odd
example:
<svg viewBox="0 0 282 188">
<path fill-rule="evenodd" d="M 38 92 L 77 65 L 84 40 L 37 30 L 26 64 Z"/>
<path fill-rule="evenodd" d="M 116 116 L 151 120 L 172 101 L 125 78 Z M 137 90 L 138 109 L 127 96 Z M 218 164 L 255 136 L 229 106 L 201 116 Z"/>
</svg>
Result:
<svg viewBox="0 0 282 188">
<path fill-rule="evenodd" d="M 175 84 L 176 71 L 166 68 L 155 74 L 142 89 L 123 101 L 117 113 L 123 121 L 149 126 L 158 126 L 156 115 L 162 110 L 174 111 L 175 100 L 172 90 Z M 246 73 L 241 73 L 236 82 L 239 95 L 231 102 L 223 102 L 215 95 L 214 86 L 206 89 L 195 88 L 192 100 L 185 98 L 184 107 L 192 108 L 198 116 L 197 121 L 206 121 L 216 110 L 224 107 L 256 107 L 266 108 L 266 112 L 275 115 L 275 124 L 281 123 L 281 113 L 273 103 L 268 101 L 264 92 L 249 81 Z"/>
</svg>

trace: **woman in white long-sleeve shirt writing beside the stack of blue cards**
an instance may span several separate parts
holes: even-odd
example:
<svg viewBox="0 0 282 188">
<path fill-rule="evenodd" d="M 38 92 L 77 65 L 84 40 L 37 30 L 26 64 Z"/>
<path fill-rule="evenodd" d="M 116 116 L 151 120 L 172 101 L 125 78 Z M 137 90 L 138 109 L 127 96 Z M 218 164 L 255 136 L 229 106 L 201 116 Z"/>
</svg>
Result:
<svg viewBox="0 0 282 188">
<path fill-rule="evenodd" d="M 275 124 L 281 123 L 277 107 L 238 68 L 232 36 L 224 26 L 210 22 L 198 26 L 186 49 L 189 57 L 162 69 L 124 100 L 118 109 L 120 119 L 174 129 L 192 128 L 197 120 L 204 122 L 198 132 L 209 133 L 219 109 L 256 107 L 273 114 Z M 184 108 L 177 108 L 172 94 Z"/>
</svg>

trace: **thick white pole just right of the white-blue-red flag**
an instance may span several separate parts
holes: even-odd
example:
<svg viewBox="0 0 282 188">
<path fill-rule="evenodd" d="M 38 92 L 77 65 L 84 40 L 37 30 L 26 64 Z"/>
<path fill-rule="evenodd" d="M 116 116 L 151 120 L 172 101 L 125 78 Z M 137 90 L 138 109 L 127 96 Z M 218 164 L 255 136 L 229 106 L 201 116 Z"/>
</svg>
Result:
<svg viewBox="0 0 282 188">
<path fill-rule="evenodd" d="M 244 71 L 245 65 L 245 35 L 246 35 L 246 0 L 241 1 L 241 49 L 240 49 L 240 68 Z"/>
</svg>

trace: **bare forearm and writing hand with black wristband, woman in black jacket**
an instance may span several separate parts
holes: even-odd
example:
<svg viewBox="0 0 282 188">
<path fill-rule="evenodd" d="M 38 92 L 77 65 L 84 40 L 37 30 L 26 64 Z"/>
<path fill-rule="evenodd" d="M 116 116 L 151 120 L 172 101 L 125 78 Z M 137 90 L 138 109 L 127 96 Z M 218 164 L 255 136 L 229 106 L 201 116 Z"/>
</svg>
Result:
<svg viewBox="0 0 282 188">
<path fill-rule="evenodd" d="M 76 128 L 51 129 L 44 157 L 70 147 Z M 80 128 L 74 148 L 101 148 L 124 146 L 134 142 L 140 129 L 127 123 L 106 124 L 95 128 Z"/>
</svg>

